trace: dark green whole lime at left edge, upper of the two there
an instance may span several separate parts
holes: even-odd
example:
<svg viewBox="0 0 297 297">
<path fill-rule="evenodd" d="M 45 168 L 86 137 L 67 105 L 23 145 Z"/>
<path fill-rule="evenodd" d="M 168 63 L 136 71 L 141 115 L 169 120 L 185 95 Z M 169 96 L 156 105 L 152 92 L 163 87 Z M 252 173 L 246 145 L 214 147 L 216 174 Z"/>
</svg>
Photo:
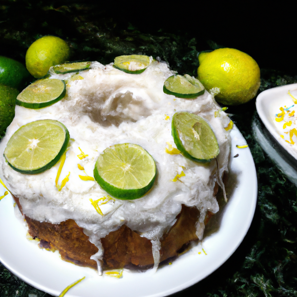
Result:
<svg viewBox="0 0 297 297">
<path fill-rule="evenodd" d="M 23 89 L 31 77 L 26 67 L 18 61 L 0 56 L 0 83 L 16 89 Z"/>
</svg>

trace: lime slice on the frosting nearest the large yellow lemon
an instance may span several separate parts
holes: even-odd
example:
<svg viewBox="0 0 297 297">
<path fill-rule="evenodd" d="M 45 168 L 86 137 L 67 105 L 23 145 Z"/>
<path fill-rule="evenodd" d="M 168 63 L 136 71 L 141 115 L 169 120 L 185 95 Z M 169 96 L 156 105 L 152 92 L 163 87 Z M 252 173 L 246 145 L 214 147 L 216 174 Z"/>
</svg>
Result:
<svg viewBox="0 0 297 297">
<path fill-rule="evenodd" d="M 196 78 L 188 74 L 172 75 L 164 82 L 163 92 L 179 98 L 192 99 L 204 94 L 205 88 Z"/>
</svg>

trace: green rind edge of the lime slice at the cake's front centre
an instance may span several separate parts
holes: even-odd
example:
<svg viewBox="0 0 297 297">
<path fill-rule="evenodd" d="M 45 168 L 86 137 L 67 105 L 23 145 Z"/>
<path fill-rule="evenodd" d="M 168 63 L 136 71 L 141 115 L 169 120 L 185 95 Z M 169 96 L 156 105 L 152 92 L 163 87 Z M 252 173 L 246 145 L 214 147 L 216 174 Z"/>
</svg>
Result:
<svg viewBox="0 0 297 297">
<path fill-rule="evenodd" d="M 145 195 L 150 189 L 151 187 L 154 185 L 156 176 L 157 176 L 157 167 L 155 164 L 155 168 L 156 168 L 156 174 L 154 175 L 154 177 L 152 178 L 152 180 L 149 182 L 149 184 L 141 189 L 119 189 L 111 184 L 108 184 L 108 182 L 106 182 L 100 175 L 99 172 L 97 170 L 97 162 L 95 164 L 95 168 L 94 168 L 94 178 L 95 181 L 97 181 L 97 183 L 99 184 L 99 186 L 106 192 L 108 192 L 108 194 L 110 194 L 111 196 L 121 199 L 121 200 L 134 200 L 137 198 L 142 197 L 143 195 Z"/>
</svg>

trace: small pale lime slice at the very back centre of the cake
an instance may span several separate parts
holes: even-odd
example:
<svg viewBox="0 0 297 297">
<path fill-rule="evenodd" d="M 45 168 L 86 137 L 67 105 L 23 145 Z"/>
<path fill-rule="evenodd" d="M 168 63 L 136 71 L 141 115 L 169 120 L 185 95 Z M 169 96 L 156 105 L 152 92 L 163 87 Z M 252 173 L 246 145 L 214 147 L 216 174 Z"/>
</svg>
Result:
<svg viewBox="0 0 297 297">
<path fill-rule="evenodd" d="M 146 70 L 149 64 L 149 56 L 129 55 L 116 57 L 114 59 L 113 67 L 126 73 L 139 74 Z"/>
</svg>

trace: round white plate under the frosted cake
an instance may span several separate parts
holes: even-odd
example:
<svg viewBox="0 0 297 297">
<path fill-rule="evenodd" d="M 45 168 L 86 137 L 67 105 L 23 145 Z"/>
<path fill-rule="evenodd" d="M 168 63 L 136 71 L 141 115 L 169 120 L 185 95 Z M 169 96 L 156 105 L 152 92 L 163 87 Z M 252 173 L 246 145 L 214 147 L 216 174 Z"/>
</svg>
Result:
<svg viewBox="0 0 297 297">
<path fill-rule="evenodd" d="M 66 296 L 159 297 L 199 282 L 233 254 L 246 235 L 255 212 L 257 176 L 254 161 L 248 148 L 236 147 L 246 144 L 246 141 L 235 126 L 231 136 L 230 178 L 234 178 L 236 186 L 221 214 L 219 229 L 173 261 L 172 265 L 159 268 L 155 273 L 152 270 L 143 273 L 124 270 L 123 277 L 116 279 L 98 276 L 91 268 L 64 262 L 57 252 L 40 249 L 36 242 L 26 239 L 27 231 L 15 217 L 11 195 L 0 201 L 1 262 L 25 282 L 54 296 L 84 276 L 86 278 Z M 233 158 L 236 154 L 239 156 Z M 2 192 L 4 188 L 1 186 L 0 195 Z"/>
</svg>

